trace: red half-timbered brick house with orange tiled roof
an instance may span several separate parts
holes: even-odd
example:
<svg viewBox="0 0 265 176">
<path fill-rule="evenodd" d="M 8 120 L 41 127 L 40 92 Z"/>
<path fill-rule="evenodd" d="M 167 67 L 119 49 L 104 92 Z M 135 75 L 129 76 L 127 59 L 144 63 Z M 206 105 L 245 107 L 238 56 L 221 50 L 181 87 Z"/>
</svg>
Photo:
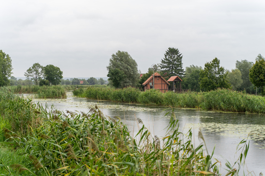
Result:
<svg viewBox="0 0 265 176">
<path fill-rule="evenodd" d="M 154 83 L 153 83 L 154 81 Z M 152 74 L 143 84 L 144 91 L 148 89 L 159 89 L 161 92 L 169 90 L 169 82 L 165 80 L 159 73 Z"/>
</svg>

